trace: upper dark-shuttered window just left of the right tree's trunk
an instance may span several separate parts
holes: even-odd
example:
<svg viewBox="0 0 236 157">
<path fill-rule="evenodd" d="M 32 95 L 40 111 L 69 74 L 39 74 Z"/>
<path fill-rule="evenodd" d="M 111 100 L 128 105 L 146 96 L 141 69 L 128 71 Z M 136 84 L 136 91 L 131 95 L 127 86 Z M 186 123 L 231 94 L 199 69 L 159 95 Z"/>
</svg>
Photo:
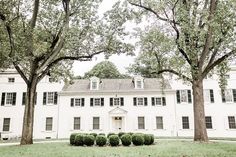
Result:
<svg viewBox="0 0 236 157">
<path fill-rule="evenodd" d="M 191 90 L 177 90 L 177 103 L 192 103 Z"/>
</svg>

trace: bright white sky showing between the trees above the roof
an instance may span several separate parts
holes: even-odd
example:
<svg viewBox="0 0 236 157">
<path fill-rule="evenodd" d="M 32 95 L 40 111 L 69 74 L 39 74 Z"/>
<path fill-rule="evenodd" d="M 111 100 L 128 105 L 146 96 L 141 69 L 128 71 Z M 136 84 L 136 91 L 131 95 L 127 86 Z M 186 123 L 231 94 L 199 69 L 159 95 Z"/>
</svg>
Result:
<svg viewBox="0 0 236 157">
<path fill-rule="evenodd" d="M 99 7 L 99 14 L 103 14 L 105 11 L 112 8 L 112 5 L 116 2 L 116 0 L 103 0 L 102 4 Z M 118 70 L 125 74 L 126 67 L 128 67 L 130 64 L 134 62 L 135 56 L 127 56 L 125 54 L 120 55 L 112 55 L 107 59 L 108 61 L 113 62 Z M 83 76 L 85 72 L 91 70 L 94 65 L 97 63 L 106 60 L 103 54 L 95 56 L 92 61 L 86 61 L 86 62 L 79 62 L 75 61 L 73 64 L 73 72 L 75 76 Z"/>
</svg>

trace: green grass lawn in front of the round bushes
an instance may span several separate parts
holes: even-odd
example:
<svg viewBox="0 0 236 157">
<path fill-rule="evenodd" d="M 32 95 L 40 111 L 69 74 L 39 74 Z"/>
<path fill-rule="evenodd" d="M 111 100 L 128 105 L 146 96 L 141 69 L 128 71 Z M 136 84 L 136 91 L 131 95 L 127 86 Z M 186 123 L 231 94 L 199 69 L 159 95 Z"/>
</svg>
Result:
<svg viewBox="0 0 236 157">
<path fill-rule="evenodd" d="M 158 141 L 151 146 L 75 147 L 68 143 L 2 146 L 0 157 L 236 157 L 236 143 Z"/>
</svg>

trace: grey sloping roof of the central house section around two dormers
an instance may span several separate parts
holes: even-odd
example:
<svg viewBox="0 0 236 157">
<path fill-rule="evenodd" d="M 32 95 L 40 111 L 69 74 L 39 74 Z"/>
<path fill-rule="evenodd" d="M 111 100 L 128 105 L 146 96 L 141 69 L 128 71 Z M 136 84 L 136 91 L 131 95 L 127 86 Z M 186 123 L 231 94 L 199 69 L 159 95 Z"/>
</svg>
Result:
<svg viewBox="0 0 236 157">
<path fill-rule="evenodd" d="M 167 80 L 163 83 L 161 80 L 156 78 L 144 78 L 144 89 L 135 89 L 133 79 L 101 79 L 98 90 L 90 90 L 90 80 L 89 79 L 79 79 L 74 80 L 71 85 L 65 85 L 62 92 L 105 92 L 105 91 L 153 91 L 153 90 L 163 90 L 171 89 L 171 86 Z"/>
</svg>

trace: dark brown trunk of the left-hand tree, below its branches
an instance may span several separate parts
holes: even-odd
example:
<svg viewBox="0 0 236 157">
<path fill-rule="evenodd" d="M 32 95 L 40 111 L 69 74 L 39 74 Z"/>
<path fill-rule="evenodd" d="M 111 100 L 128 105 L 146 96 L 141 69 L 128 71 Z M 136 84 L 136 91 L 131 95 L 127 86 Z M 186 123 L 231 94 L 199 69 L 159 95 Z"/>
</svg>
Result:
<svg viewBox="0 0 236 157">
<path fill-rule="evenodd" d="M 30 80 L 31 81 L 31 80 Z M 33 144 L 34 105 L 36 99 L 37 79 L 32 78 L 27 85 L 26 104 L 23 119 L 21 145 Z"/>
</svg>

